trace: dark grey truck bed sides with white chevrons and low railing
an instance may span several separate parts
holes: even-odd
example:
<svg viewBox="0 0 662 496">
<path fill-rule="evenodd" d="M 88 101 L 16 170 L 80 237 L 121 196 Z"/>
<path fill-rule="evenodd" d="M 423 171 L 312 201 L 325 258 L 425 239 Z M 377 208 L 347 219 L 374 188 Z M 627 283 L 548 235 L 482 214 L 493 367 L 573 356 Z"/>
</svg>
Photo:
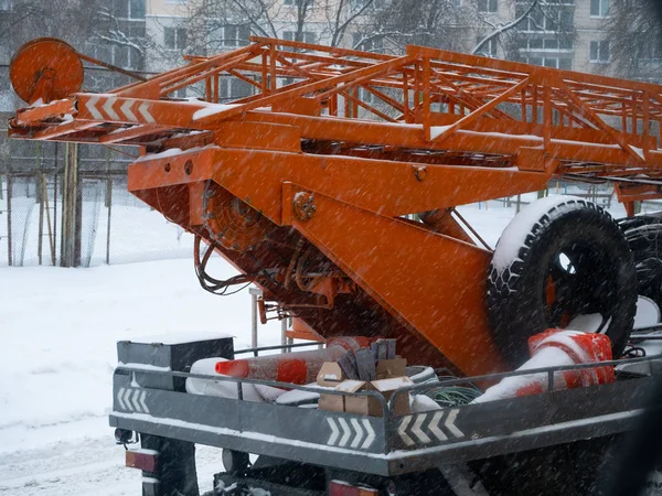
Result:
<svg viewBox="0 0 662 496">
<path fill-rule="evenodd" d="M 659 357 L 615 364 L 654 359 Z M 586 365 L 565 368 L 581 367 Z M 553 378 L 558 369 L 425 384 L 398 393 L 538 371 Z M 654 371 L 653 367 L 650 369 Z M 249 382 L 319 392 L 279 382 L 120 366 L 114 377 L 111 427 L 330 468 L 360 467 L 361 472 L 382 476 L 624 432 L 641 413 L 653 381 L 651 375 L 618 373 L 613 384 L 399 417 L 389 411 L 382 397 L 363 392 L 360 395 L 377 397 L 385 413 L 365 417 L 140 387 L 136 375 L 229 380 L 237 387 Z"/>
</svg>

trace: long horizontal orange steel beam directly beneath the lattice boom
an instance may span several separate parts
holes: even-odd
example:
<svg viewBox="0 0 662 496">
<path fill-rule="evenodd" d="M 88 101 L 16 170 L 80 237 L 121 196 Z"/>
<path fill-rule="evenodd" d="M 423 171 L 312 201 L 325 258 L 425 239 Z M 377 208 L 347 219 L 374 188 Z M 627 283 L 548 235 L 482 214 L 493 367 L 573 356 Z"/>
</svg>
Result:
<svg viewBox="0 0 662 496">
<path fill-rule="evenodd" d="M 231 129 L 226 131 L 231 132 Z M 267 132 L 266 128 L 263 132 Z M 189 161 L 192 171 L 186 174 L 184 164 Z M 161 166 L 166 162 L 170 163 L 170 171 Z M 416 177 L 418 164 L 389 162 L 388 165 L 384 168 L 381 160 L 352 157 L 205 148 L 163 160 L 143 158 L 131 166 L 129 190 L 213 179 L 235 196 L 250 197 L 252 206 L 280 224 L 282 177 L 392 217 L 503 197 L 508 191 L 537 191 L 547 183 L 546 174 L 538 172 L 455 165 L 428 165 L 421 181 Z M 259 177 L 259 181 L 247 184 L 245 177 Z M 471 187 L 466 187 L 467 184 Z M 385 196 L 386 191 L 398 191 L 398 195 Z"/>
</svg>

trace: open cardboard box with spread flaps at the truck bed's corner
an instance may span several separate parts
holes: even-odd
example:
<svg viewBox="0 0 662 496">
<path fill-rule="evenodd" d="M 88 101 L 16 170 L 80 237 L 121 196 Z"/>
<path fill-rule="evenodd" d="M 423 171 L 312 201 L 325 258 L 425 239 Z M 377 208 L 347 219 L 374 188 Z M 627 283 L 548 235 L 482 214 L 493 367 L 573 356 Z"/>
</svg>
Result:
<svg viewBox="0 0 662 496">
<path fill-rule="evenodd" d="M 396 389 L 405 386 L 412 386 L 414 382 L 406 376 L 391 377 L 387 379 L 377 379 L 370 382 L 362 380 L 345 380 L 335 387 L 337 391 L 355 393 L 360 391 L 377 391 L 388 401 Z M 409 413 L 409 395 L 401 393 L 395 399 L 393 406 L 396 416 Z M 337 410 L 338 411 L 338 410 Z M 382 405 L 376 398 L 366 396 L 346 396 L 344 397 L 344 412 L 356 413 L 360 416 L 382 417 Z"/>
</svg>

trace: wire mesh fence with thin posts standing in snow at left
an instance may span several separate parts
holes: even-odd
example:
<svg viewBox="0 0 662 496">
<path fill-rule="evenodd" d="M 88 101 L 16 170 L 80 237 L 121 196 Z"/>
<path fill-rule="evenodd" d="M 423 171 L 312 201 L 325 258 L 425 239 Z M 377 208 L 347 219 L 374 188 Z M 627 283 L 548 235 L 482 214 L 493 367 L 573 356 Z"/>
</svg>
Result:
<svg viewBox="0 0 662 496">
<path fill-rule="evenodd" d="M 184 230 L 127 191 L 137 150 L 79 145 L 73 200 L 71 144 L 8 140 L 0 131 L 0 266 L 61 265 L 75 233 L 75 266 L 190 257 Z M 68 226 L 68 224 L 72 226 Z M 63 229 L 64 227 L 64 229 Z"/>
</svg>

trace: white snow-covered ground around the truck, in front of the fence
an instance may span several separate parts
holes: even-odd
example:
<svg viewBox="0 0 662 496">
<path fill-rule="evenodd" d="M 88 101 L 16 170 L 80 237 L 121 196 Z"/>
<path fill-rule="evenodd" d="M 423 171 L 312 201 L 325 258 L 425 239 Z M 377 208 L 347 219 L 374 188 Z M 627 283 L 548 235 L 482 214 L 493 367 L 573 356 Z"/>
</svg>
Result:
<svg viewBox="0 0 662 496">
<path fill-rule="evenodd" d="M 132 259 L 154 256 L 156 248 L 161 256 L 191 252 L 188 235 L 160 218 L 150 225 L 161 226 L 161 235 L 145 236 L 138 211 L 158 216 L 145 208 L 125 212 Z M 460 212 L 493 247 L 515 209 L 491 202 Z M 234 273 L 220 260 L 210 270 L 221 278 Z M 211 332 L 235 335 L 241 348 L 249 345 L 249 326 L 248 291 L 227 298 L 204 292 L 190 256 L 90 269 L 1 268 L 0 495 L 138 494 L 140 474 L 124 467 L 124 450 L 107 421 L 116 342 Z M 279 341 L 278 323 L 261 327 L 260 345 Z M 220 453 L 199 453 L 202 488 L 209 490 Z"/>
</svg>

